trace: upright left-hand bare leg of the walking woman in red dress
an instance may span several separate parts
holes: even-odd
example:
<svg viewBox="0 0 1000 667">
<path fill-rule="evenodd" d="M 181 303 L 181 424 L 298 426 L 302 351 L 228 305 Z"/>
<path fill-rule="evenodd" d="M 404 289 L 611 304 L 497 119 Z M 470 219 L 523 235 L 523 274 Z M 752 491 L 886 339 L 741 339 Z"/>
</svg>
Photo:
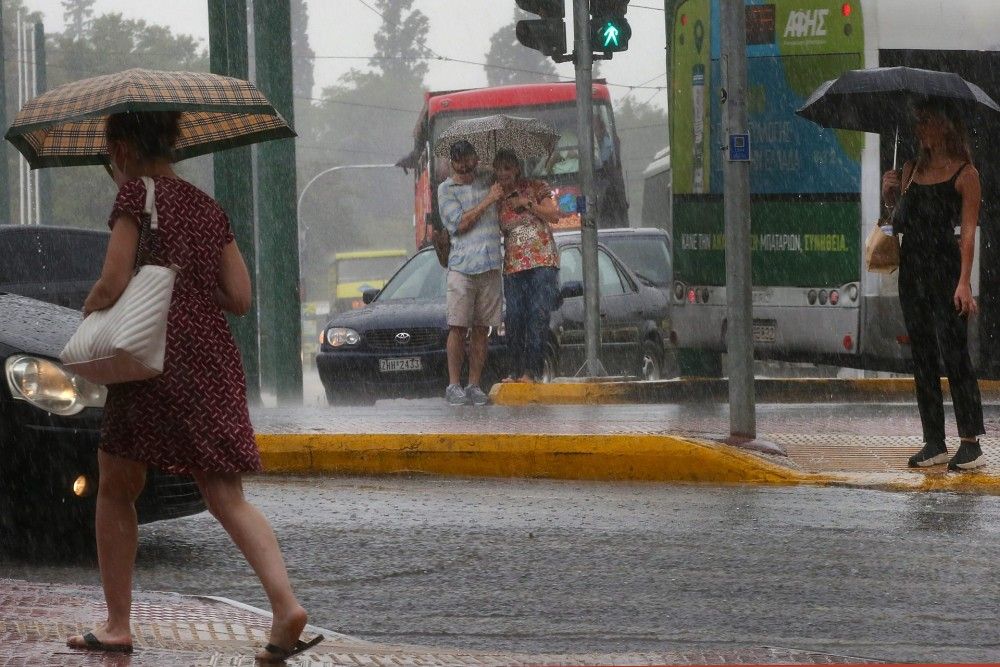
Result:
<svg viewBox="0 0 1000 667">
<path fill-rule="evenodd" d="M 139 540 L 135 501 L 146 483 L 146 464 L 123 459 L 103 450 L 97 452 L 100 482 L 97 490 L 97 562 L 108 607 L 107 622 L 94 628 L 97 639 L 106 644 L 132 641 L 129 617 L 132 613 L 132 570 Z M 83 637 L 75 635 L 70 646 L 83 647 Z"/>
</svg>

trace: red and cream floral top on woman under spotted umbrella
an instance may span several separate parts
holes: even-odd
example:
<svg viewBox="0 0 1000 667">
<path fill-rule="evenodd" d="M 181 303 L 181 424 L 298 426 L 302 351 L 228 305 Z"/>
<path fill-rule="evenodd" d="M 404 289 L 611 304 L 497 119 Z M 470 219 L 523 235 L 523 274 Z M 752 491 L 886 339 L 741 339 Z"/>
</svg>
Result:
<svg viewBox="0 0 1000 667">
<path fill-rule="evenodd" d="M 518 196 L 536 203 L 551 198 L 552 188 L 545 181 L 518 181 Z M 500 231 L 504 240 L 504 273 L 517 273 L 539 266 L 559 267 L 559 253 L 549 225 L 528 209 L 515 210 L 509 199 L 498 206 Z"/>
</svg>

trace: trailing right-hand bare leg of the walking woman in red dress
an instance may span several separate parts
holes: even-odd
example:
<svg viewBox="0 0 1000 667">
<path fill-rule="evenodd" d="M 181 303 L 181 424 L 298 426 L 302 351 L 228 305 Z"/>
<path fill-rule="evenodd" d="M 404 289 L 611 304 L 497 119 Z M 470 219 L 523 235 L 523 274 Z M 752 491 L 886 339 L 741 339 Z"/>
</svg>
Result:
<svg viewBox="0 0 1000 667">
<path fill-rule="evenodd" d="M 306 626 L 306 610 L 292 592 L 271 524 L 243 496 L 243 480 L 238 473 L 199 472 L 194 477 L 208 511 L 229 533 L 264 587 L 271 603 L 270 643 L 291 648 Z M 259 657 L 268 655 L 265 651 Z"/>
</svg>

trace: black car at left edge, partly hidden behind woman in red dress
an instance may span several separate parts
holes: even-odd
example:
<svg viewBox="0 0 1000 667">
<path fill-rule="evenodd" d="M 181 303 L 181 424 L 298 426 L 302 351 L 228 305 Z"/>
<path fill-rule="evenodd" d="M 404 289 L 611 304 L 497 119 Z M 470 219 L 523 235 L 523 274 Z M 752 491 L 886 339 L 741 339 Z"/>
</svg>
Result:
<svg viewBox="0 0 1000 667">
<path fill-rule="evenodd" d="M 0 530 L 86 539 L 97 491 L 105 389 L 67 371 L 59 352 L 80 322 L 108 234 L 0 227 Z M 68 307 L 67 307 L 68 306 Z M 140 522 L 194 514 L 189 477 L 150 470 Z"/>
</svg>

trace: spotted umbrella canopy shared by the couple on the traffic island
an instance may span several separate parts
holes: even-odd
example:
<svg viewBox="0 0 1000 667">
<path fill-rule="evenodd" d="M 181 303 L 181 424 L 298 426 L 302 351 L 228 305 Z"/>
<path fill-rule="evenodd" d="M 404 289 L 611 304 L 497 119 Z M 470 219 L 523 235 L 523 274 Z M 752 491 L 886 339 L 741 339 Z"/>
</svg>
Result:
<svg viewBox="0 0 1000 667">
<path fill-rule="evenodd" d="M 493 162 L 497 150 L 507 148 L 522 160 L 550 155 L 559 141 L 559 133 L 545 121 L 496 114 L 467 118 L 452 123 L 438 139 L 435 155 L 449 157 L 451 145 L 460 139 L 472 144 L 479 159 Z"/>
</svg>

